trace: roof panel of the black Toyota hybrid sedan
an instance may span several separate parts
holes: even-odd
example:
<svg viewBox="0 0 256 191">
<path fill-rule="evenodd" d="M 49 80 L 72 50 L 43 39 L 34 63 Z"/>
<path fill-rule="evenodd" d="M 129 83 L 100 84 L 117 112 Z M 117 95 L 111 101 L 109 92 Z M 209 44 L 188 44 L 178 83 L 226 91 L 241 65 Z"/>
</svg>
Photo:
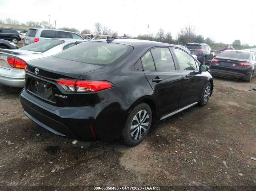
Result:
<svg viewBox="0 0 256 191">
<path fill-rule="evenodd" d="M 107 39 L 100 39 L 100 40 L 94 40 L 94 41 L 95 42 L 96 41 L 106 42 Z M 115 39 L 115 40 L 112 40 L 111 43 L 133 45 L 133 46 L 142 45 L 142 44 L 147 45 L 149 43 L 152 43 L 156 46 L 176 46 L 176 45 L 168 44 L 168 43 L 161 43 L 161 42 L 156 42 L 156 41 L 151 41 L 151 40 L 139 40 L 139 39 Z M 178 46 L 176 46 L 176 47 L 178 47 Z"/>
</svg>

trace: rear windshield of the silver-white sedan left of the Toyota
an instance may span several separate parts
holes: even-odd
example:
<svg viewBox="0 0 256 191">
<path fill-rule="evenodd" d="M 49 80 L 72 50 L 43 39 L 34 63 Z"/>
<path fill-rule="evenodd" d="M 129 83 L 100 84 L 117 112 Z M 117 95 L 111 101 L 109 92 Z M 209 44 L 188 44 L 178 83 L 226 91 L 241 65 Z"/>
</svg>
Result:
<svg viewBox="0 0 256 191">
<path fill-rule="evenodd" d="M 23 46 L 19 49 L 21 50 L 29 50 L 44 53 L 45 51 L 58 46 L 59 44 L 65 43 L 64 40 L 56 40 L 56 39 L 46 39 L 36 43 L 29 44 L 27 46 Z"/>
</svg>

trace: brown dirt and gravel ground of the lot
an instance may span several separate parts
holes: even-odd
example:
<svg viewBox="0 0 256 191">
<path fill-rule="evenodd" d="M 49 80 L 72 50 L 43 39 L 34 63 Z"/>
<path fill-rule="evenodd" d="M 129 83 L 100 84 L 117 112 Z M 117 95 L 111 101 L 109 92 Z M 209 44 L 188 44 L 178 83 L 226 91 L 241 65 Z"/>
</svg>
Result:
<svg viewBox="0 0 256 191">
<path fill-rule="evenodd" d="M 256 161 L 250 158 L 256 158 L 256 91 L 251 88 L 256 78 L 251 83 L 215 78 L 205 107 L 162 120 L 140 145 L 127 147 L 120 141 L 72 144 L 23 114 L 21 89 L 0 86 L 0 190 L 255 190 Z M 43 187 L 48 185 L 56 187 Z"/>
</svg>

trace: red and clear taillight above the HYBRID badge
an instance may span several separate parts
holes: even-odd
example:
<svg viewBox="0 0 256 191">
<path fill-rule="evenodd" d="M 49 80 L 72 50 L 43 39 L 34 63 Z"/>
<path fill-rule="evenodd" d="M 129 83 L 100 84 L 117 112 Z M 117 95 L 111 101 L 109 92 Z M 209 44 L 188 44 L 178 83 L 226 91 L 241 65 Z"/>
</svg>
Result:
<svg viewBox="0 0 256 191">
<path fill-rule="evenodd" d="M 113 85 L 107 81 L 59 79 L 56 82 L 60 84 L 65 91 L 72 92 L 100 91 L 113 87 Z"/>
</svg>

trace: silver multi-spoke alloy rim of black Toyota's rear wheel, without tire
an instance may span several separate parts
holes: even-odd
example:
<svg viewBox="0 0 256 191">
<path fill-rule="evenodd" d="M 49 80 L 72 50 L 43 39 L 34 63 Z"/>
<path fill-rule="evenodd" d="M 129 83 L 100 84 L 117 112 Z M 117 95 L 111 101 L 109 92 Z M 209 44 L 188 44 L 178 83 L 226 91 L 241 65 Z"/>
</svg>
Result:
<svg viewBox="0 0 256 191">
<path fill-rule="evenodd" d="M 131 138 L 134 140 L 140 139 L 148 129 L 149 115 L 145 110 L 139 111 L 131 122 Z"/>
</svg>

